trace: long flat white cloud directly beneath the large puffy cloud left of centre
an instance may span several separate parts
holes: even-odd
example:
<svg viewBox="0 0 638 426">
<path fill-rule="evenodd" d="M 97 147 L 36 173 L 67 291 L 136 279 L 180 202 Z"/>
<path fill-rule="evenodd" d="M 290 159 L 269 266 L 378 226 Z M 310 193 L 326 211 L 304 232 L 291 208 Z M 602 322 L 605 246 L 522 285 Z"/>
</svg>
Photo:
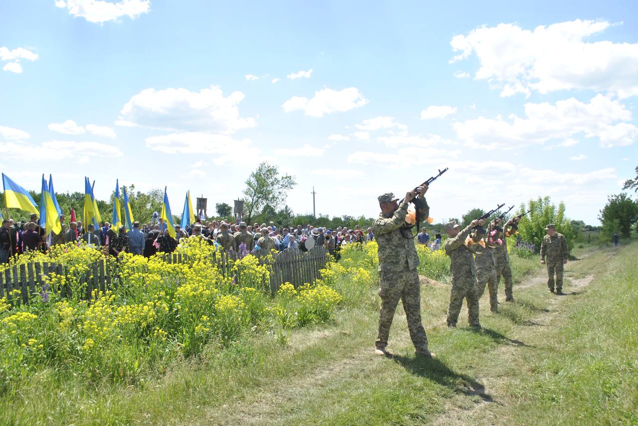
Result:
<svg viewBox="0 0 638 426">
<path fill-rule="evenodd" d="M 183 132 L 151 136 L 144 139 L 147 148 L 168 154 L 223 154 L 242 152 L 251 145 L 249 139 L 233 139 L 225 134 Z M 251 150 L 255 148 L 250 147 Z M 199 161 L 195 164 L 200 164 Z M 200 166 L 198 166 L 200 167 Z"/>
</svg>

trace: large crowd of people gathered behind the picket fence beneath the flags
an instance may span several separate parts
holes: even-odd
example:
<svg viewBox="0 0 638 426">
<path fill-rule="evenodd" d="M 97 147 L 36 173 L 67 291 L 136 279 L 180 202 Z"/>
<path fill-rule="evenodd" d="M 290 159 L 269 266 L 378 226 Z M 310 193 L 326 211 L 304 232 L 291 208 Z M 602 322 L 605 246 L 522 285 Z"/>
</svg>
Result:
<svg viewBox="0 0 638 426">
<path fill-rule="evenodd" d="M 184 238 L 204 239 L 211 245 L 221 246 L 221 250 L 235 257 L 262 249 L 281 252 L 288 248 L 308 250 L 313 246 L 325 246 L 338 259 L 341 246 L 367 243 L 375 239 L 371 227 L 364 231 L 359 225 L 354 229 L 327 229 L 310 224 L 278 227 L 274 222 L 248 225 L 244 222 L 229 224 L 223 220 L 212 220 L 204 223 L 198 221 L 185 229 L 175 225 L 173 238 L 166 224 L 153 222 L 133 222 L 132 229 L 124 226 L 115 229 L 108 222 L 97 227 L 94 224 L 85 225 L 79 220 L 67 225 L 64 215 L 61 215 L 60 221 L 62 231 L 53 234 L 40 227 L 38 215 L 31 215 L 28 222 L 21 224 L 12 219 L 4 219 L 0 229 L 0 262 L 8 262 L 13 255 L 33 250 L 46 252 L 52 245 L 66 243 L 84 244 L 113 256 L 128 252 L 151 257 L 158 252 L 174 252 Z"/>
</svg>

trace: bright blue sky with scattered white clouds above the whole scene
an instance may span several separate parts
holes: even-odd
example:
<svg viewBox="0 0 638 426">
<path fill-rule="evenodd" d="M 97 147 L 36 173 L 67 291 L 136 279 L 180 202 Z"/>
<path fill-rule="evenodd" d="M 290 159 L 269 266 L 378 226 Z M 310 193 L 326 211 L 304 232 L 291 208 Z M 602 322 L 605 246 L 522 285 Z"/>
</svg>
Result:
<svg viewBox="0 0 638 426">
<path fill-rule="evenodd" d="M 485 2 L 484 2 L 485 3 Z M 597 223 L 638 159 L 632 1 L 5 1 L 0 169 L 209 205 L 267 160 L 295 213 L 378 213 L 450 167 L 436 220 L 550 195 Z M 456 59 L 455 59 L 456 57 Z M 20 72 L 18 72 L 20 71 Z M 278 79 L 278 80 L 276 80 Z M 71 120 L 71 121 L 68 121 Z"/>
</svg>

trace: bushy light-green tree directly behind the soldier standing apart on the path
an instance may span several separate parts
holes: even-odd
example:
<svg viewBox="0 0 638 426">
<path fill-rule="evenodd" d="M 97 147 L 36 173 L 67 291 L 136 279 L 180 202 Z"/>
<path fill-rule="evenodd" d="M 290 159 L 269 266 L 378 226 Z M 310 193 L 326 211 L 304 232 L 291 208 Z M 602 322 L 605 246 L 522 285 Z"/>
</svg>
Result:
<svg viewBox="0 0 638 426">
<path fill-rule="evenodd" d="M 570 220 L 565 217 L 565 203 L 560 202 L 558 206 L 552 204 L 549 197 L 538 197 L 530 200 L 528 205 L 521 204 L 520 213 L 531 210 L 527 216 L 521 218 L 518 232 L 524 241 L 536 245 L 540 249 L 545 236 L 545 227 L 549 224 L 556 225 L 556 231 L 560 232 L 567 239 L 570 250 L 574 247 L 575 239 L 578 235 L 577 229 L 572 226 Z M 519 214 L 520 214 L 519 213 Z"/>
</svg>

